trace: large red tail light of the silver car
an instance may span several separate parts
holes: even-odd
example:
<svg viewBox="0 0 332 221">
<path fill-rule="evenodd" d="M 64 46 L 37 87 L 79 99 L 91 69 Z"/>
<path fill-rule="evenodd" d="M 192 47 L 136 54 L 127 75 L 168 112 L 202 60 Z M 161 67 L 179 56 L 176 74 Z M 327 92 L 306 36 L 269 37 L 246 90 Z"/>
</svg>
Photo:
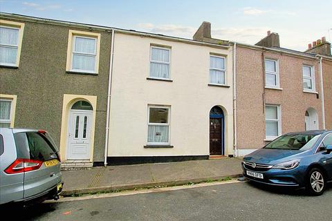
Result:
<svg viewBox="0 0 332 221">
<path fill-rule="evenodd" d="M 8 174 L 23 173 L 28 171 L 35 171 L 42 166 L 43 162 L 40 160 L 17 159 L 5 170 Z"/>
</svg>

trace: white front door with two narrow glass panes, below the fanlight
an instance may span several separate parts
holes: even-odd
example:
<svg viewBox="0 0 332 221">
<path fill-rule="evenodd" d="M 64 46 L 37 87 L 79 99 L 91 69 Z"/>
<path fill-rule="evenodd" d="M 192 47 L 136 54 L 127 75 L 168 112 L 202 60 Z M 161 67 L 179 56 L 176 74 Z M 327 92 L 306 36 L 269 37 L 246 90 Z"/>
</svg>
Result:
<svg viewBox="0 0 332 221">
<path fill-rule="evenodd" d="M 89 160 L 93 111 L 71 110 L 68 122 L 68 160 Z"/>
</svg>

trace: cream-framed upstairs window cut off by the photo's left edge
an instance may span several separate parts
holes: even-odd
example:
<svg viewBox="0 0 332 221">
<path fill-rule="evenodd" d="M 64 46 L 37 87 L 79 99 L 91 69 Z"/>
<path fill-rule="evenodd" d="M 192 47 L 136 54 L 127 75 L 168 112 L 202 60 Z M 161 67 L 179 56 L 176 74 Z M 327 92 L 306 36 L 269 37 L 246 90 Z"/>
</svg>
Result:
<svg viewBox="0 0 332 221">
<path fill-rule="evenodd" d="M 0 20 L 0 65 L 19 66 L 24 23 Z"/>
</svg>

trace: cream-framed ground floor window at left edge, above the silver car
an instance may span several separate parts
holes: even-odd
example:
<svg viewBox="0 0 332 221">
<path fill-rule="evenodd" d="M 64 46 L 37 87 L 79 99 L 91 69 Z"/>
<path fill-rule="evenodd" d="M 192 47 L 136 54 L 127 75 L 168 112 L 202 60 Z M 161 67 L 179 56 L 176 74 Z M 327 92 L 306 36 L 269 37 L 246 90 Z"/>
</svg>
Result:
<svg viewBox="0 0 332 221">
<path fill-rule="evenodd" d="M 0 96 L 0 127 L 14 126 L 15 104 L 15 95 Z"/>
</svg>

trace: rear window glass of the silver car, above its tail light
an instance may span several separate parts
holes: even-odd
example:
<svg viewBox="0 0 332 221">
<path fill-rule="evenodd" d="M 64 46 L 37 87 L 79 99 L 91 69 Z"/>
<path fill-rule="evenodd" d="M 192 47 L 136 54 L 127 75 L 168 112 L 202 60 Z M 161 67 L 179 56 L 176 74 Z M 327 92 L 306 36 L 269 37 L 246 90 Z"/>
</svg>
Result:
<svg viewBox="0 0 332 221">
<path fill-rule="evenodd" d="M 53 160 L 57 158 L 57 148 L 42 133 L 15 133 L 17 157 L 30 160 Z"/>
</svg>

